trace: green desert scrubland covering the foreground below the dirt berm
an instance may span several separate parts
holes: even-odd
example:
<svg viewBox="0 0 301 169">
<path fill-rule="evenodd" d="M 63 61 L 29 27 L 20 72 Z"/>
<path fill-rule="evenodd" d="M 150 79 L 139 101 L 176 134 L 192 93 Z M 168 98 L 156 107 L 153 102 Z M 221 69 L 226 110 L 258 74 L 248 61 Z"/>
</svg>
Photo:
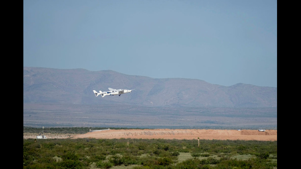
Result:
<svg viewBox="0 0 301 169">
<path fill-rule="evenodd" d="M 34 142 L 34 139 L 23 139 L 23 168 L 91 168 L 89 165 L 94 162 L 102 166 L 99 168 L 131 164 L 139 165 L 137 169 L 277 167 L 277 141 L 200 140 L 198 147 L 195 140 L 88 140 L 38 139 Z M 233 160 L 237 154 L 248 155 L 248 159 Z M 191 158 L 190 155 L 208 158 Z"/>
</svg>

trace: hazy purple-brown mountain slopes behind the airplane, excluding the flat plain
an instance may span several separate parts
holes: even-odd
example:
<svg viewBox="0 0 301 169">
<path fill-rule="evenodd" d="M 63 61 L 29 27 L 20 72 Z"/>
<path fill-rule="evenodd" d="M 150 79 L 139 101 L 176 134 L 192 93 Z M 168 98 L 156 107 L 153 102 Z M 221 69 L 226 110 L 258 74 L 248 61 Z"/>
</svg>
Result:
<svg viewBox="0 0 301 169">
<path fill-rule="evenodd" d="M 95 97 L 92 90 L 135 89 Z M 198 79 L 154 79 L 119 72 L 23 67 L 23 104 L 85 104 L 153 107 L 277 108 L 277 87 L 210 84 Z"/>
</svg>

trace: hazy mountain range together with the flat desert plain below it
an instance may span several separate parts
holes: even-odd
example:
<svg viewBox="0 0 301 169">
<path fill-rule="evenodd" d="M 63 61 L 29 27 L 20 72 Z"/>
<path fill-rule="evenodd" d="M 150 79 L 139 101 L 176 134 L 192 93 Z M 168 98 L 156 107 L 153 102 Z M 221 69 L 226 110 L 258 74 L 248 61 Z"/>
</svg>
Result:
<svg viewBox="0 0 301 169">
<path fill-rule="evenodd" d="M 96 97 L 93 90 L 134 89 Z M 277 87 L 23 67 L 23 126 L 277 128 Z"/>
</svg>

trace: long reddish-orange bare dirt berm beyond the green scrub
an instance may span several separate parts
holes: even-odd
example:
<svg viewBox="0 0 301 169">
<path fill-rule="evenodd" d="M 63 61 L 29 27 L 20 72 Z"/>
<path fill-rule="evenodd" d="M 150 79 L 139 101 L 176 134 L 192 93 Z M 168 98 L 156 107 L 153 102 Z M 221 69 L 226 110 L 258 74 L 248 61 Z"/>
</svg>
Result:
<svg viewBox="0 0 301 169">
<path fill-rule="evenodd" d="M 205 140 L 261 140 L 277 141 L 277 130 L 211 130 L 211 129 L 129 129 L 129 130 L 104 130 L 72 136 L 76 138 L 131 138 L 131 139 L 197 139 Z"/>
</svg>

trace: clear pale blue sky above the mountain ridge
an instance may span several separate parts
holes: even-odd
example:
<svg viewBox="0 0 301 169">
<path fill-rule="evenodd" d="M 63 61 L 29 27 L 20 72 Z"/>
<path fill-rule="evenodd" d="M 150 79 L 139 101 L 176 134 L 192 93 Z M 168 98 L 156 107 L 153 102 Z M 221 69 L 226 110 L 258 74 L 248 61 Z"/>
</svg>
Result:
<svg viewBox="0 0 301 169">
<path fill-rule="evenodd" d="M 24 0 L 23 66 L 277 87 L 277 1 Z"/>
</svg>

